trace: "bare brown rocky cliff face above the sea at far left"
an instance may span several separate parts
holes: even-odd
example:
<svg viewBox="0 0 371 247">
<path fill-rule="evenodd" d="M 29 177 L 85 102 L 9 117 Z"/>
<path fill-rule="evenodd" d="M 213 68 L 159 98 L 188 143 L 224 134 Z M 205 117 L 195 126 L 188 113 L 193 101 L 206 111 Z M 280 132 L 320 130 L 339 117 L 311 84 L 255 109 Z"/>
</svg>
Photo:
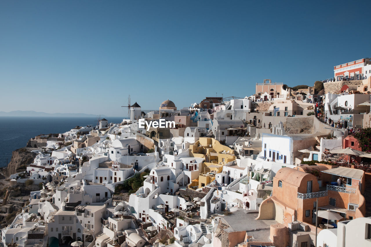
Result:
<svg viewBox="0 0 371 247">
<path fill-rule="evenodd" d="M 3 175 L 6 178 L 9 178 L 10 175 L 25 171 L 26 168 L 22 168 L 22 165 L 28 165 L 33 162 L 36 155 L 35 153 L 32 153 L 31 151 L 35 148 L 19 148 L 17 150 L 14 150 L 12 152 L 12 159 L 10 160 L 8 167 L 3 168 Z"/>
</svg>

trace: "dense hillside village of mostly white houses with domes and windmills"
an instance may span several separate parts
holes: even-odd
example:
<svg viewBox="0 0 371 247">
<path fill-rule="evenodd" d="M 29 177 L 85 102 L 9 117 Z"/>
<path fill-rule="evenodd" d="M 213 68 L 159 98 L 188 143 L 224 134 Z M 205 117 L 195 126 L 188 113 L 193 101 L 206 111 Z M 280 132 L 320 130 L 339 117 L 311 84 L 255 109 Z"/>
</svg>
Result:
<svg viewBox="0 0 371 247">
<path fill-rule="evenodd" d="M 244 98 L 179 109 L 169 95 L 147 113 L 135 99 L 120 123 L 36 136 L 1 191 L 1 243 L 371 246 L 369 75 L 363 58 Z"/>
</svg>

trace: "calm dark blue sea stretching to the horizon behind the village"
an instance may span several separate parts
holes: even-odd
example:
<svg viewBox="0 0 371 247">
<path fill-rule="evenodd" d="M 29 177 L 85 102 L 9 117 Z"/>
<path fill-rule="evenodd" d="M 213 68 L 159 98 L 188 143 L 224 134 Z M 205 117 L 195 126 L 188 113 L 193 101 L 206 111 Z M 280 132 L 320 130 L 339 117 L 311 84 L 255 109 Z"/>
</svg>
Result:
<svg viewBox="0 0 371 247">
<path fill-rule="evenodd" d="M 121 123 L 124 117 L 108 117 L 109 123 Z M 62 133 L 76 126 L 96 125 L 96 118 L 65 117 L 0 117 L 0 167 L 7 165 L 12 151 L 26 146 L 30 138 L 40 134 Z"/>
</svg>

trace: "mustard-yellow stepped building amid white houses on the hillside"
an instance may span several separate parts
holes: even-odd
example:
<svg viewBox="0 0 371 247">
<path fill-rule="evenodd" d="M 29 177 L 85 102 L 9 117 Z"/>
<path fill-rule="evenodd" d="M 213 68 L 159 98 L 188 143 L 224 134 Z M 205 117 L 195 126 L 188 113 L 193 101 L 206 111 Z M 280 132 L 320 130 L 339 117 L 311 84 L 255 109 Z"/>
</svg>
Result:
<svg viewBox="0 0 371 247">
<path fill-rule="evenodd" d="M 223 165 L 236 159 L 231 148 L 210 137 L 200 137 L 197 142 L 190 145 L 189 150 L 191 156 L 205 159 L 198 179 L 193 180 L 188 185 L 189 188 L 195 186 L 202 188 L 214 181 L 215 174 L 223 170 Z"/>
</svg>

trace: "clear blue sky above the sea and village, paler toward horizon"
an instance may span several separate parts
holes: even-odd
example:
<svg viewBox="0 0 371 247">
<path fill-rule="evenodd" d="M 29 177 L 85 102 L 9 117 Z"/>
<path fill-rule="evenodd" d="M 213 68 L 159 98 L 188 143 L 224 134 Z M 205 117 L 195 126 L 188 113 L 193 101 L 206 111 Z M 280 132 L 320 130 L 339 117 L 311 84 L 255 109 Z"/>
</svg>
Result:
<svg viewBox="0 0 371 247">
<path fill-rule="evenodd" d="M 370 1 L 0 2 L 0 111 L 124 116 L 313 85 L 371 56 Z"/>
</svg>

